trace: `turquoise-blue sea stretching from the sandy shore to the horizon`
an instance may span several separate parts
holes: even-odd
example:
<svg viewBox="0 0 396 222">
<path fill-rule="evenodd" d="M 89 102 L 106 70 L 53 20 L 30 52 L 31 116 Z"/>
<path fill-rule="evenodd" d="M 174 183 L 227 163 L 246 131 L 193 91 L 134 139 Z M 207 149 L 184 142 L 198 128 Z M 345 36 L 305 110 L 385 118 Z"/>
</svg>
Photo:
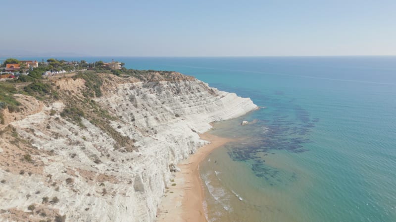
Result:
<svg viewBox="0 0 396 222">
<path fill-rule="evenodd" d="M 260 107 L 214 124 L 235 142 L 200 165 L 210 222 L 396 221 L 396 56 L 58 59 L 177 71 Z"/>
</svg>

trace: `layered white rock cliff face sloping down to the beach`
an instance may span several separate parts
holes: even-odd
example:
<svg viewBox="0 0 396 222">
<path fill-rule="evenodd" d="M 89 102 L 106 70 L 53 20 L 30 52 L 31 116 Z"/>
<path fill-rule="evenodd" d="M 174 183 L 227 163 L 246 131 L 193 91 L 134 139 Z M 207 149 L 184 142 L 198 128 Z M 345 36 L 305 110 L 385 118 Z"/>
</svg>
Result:
<svg viewBox="0 0 396 222">
<path fill-rule="evenodd" d="M 179 74 L 107 79 L 90 107 L 78 99 L 84 82 L 56 81 L 70 100 L 0 125 L 1 221 L 154 221 L 171 183 L 169 166 L 207 143 L 198 133 L 257 108 Z M 65 112 L 70 101 L 85 111 L 81 121 Z"/>
</svg>

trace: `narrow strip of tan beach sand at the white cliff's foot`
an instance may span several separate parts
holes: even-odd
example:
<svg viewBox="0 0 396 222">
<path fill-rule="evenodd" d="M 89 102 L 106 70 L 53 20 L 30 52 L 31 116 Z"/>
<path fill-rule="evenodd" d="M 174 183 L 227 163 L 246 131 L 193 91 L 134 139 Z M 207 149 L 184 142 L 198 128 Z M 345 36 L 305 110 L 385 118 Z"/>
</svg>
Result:
<svg viewBox="0 0 396 222">
<path fill-rule="evenodd" d="M 174 182 L 165 192 L 158 207 L 157 222 L 205 222 L 204 190 L 199 175 L 199 163 L 215 148 L 233 141 L 209 133 L 199 135 L 210 144 L 179 163 L 180 172 L 174 173 Z"/>
</svg>

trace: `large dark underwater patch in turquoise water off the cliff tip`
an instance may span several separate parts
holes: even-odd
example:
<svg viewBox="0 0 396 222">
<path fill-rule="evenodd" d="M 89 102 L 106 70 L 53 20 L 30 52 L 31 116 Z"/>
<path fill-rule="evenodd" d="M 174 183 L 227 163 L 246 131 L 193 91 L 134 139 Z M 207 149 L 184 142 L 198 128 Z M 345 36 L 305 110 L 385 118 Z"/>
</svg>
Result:
<svg viewBox="0 0 396 222">
<path fill-rule="evenodd" d="M 218 85 L 218 86 L 216 86 Z M 319 118 L 312 118 L 308 111 L 297 105 L 295 98 L 284 96 L 283 91 L 275 91 L 277 96 L 263 95 L 261 91 L 246 88 L 230 88 L 216 84 L 214 87 L 225 91 L 238 92 L 239 96 L 250 97 L 259 106 L 269 109 L 263 112 L 253 113 L 254 118 L 259 119 L 247 135 L 253 135 L 243 144 L 235 143 L 228 145 L 228 154 L 235 161 L 244 161 L 250 164 L 253 173 L 268 181 L 269 185 L 287 183 L 297 179 L 296 173 L 290 172 L 289 179 L 285 179 L 284 171 L 265 164 L 263 159 L 267 153 L 275 154 L 271 150 L 287 150 L 293 153 L 308 151 L 304 144 L 310 143 L 308 136 Z M 263 131 L 262 129 L 267 130 Z M 250 132 L 251 131 L 251 132 Z"/>
</svg>

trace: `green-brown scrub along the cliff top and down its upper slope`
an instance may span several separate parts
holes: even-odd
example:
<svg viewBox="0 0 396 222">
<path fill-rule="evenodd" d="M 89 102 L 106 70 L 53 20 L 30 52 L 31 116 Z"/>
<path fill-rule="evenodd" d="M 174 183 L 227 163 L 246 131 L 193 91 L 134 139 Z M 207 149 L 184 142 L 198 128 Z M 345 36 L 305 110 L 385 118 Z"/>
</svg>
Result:
<svg viewBox="0 0 396 222">
<path fill-rule="evenodd" d="M 113 129 L 109 123 L 111 120 L 118 119 L 118 117 L 111 115 L 94 100 L 94 98 L 102 96 L 104 82 L 111 83 L 114 80 L 111 75 L 121 78 L 134 77 L 132 78 L 134 81 L 136 79 L 140 81 L 173 81 L 189 78 L 185 75 L 168 71 L 127 70 L 125 68 L 121 70 L 108 70 L 97 66 L 95 70 L 81 72 L 72 76 L 75 80 L 81 78 L 85 81 L 84 84 L 86 87 L 77 89 L 83 95 L 83 97 L 79 97 L 73 90 L 69 91 L 60 89 L 59 86 L 55 87 L 56 81 L 52 78 L 41 79 L 40 72 L 42 72 L 41 69 L 35 69 L 29 75 L 20 76 L 19 80 L 7 80 L 0 83 L 0 121 L 2 124 L 4 123 L 2 109 L 8 108 L 10 112 L 20 111 L 19 106 L 21 104 L 14 96 L 16 93 L 33 96 L 45 103 L 61 100 L 66 105 L 66 108 L 60 113 L 63 118 L 82 128 L 86 127 L 83 124 L 82 118 L 88 119 L 93 125 L 114 139 L 116 142 L 114 148 L 125 148 L 123 149 L 125 151 L 135 149 L 135 141 Z M 62 78 L 62 76 L 56 77 L 55 79 Z"/>
</svg>

